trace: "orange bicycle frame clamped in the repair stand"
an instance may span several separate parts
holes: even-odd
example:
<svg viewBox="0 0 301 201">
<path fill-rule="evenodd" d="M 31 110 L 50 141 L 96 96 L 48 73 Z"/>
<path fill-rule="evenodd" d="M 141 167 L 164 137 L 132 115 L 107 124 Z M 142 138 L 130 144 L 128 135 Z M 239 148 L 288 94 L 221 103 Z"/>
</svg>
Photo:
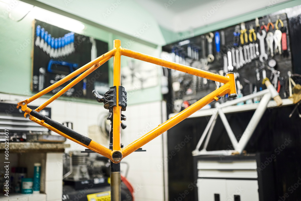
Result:
<svg viewBox="0 0 301 201">
<path fill-rule="evenodd" d="M 224 83 L 221 87 L 216 89 L 215 91 L 211 92 L 210 94 L 206 95 L 202 99 L 198 100 L 196 103 L 192 104 L 182 112 L 178 113 L 177 115 L 173 116 L 172 118 L 168 119 L 166 122 L 160 124 L 153 130 L 149 131 L 147 134 L 143 135 L 141 138 L 137 139 L 136 141 L 130 143 L 124 148 L 120 147 L 120 125 L 121 125 L 121 106 L 118 104 L 118 90 L 119 86 L 121 85 L 121 73 L 120 73 L 120 59 L 121 56 L 132 57 L 134 59 L 146 61 L 149 63 L 153 63 L 159 66 L 167 67 L 174 70 L 179 70 L 184 73 L 189 73 L 194 76 L 203 77 L 205 79 L 210 79 L 216 82 Z M 113 107 L 113 150 L 110 150 L 95 141 L 73 131 L 69 128 L 60 127 L 62 129 L 57 129 L 57 126 L 61 126 L 59 123 L 41 115 L 39 111 L 45 108 L 48 104 L 52 101 L 60 97 L 66 91 L 68 91 L 71 87 L 76 85 L 79 81 L 84 79 L 87 75 L 92 73 L 96 70 L 99 66 L 107 62 L 111 57 L 114 57 L 114 64 L 113 64 L 113 85 L 116 86 L 116 106 Z M 79 75 L 82 73 L 81 75 Z M 30 109 L 27 107 L 27 104 L 36 100 L 37 98 L 41 97 L 42 95 L 48 93 L 49 91 L 57 88 L 58 86 L 64 84 L 68 80 L 74 78 L 75 76 L 79 75 L 76 79 L 70 82 L 67 86 L 61 89 L 59 92 L 54 94 L 51 98 L 49 98 L 44 104 L 36 108 L 35 110 Z M 142 147 L 144 144 L 148 143 L 149 141 L 153 140 L 157 136 L 161 135 L 163 132 L 167 131 L 169 128 L 172 128 L 174 125 L 178 124 L 182 120 L 186 119 L 192 113 L 200 110 L 200 108 L 204 107 L 205 105 L 211 103 L 213 100 L 219 100 L 219 97 L 224 96 L 225 94 L 229 94 L 229 97 L 236 96 L 236 85 L 233 73 L 228 73 L 226 76 L 221 76 L 215 73 L 207 72 L 204 70 L 196 69 L 190 66 L 185 66 L 179 63 L 174 63 L 170 61 L 166 61 L 163 59 L 159 59 L 156 57 L 152 57 L 146 54 L 141 54 L 139 52 L 135 52 L 132 50 L 128 50 L 122 48 L 120 46 L 120 40 L 114 40 L 114 47 L 112 50 L 108 51 L 107 53 L 101 55 L 100 57 L 96 58 L 95 60 L 87 63 L 86 65 L 82 66 L 81 68 L 77 69 L 73 73 L 70 73 L 68 76 L 64 77 L 60 81 L 54 83 L 53 85 L 45 88 L 44 90 L 40 91 L 36 95 L 21 101 L 18 103 L 17 108 L 21 107 L 21 110 L 25 112 L 24 116 L 29 116 L 29 119 L 33 122 L 38 123 L 39 125 L 44 126 L 45 128 L 54 131 L 65 138 L 68 138 L 96 153 L 99 153 L 107 158 L 109 158 L 113 163 L 119 163 L 124 157 L 128 156 L 130 153 L 134 152 L 138 148 Z M 46 118 L 46 119 L 45 119 Z M 56 128 L 55 128 L 56 127 Z M 69 130 L 68 130 L 69 129 Z M 71 131 L 70 131 L 71 130 Z M 66 132 L 64 132 L 66 131 Z"/>
</svg>

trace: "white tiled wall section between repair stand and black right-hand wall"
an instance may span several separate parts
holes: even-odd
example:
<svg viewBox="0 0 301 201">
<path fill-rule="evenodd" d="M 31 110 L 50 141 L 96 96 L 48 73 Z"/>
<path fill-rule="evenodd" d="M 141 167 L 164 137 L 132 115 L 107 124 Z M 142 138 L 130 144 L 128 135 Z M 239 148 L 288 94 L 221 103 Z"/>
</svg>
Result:
<svg viewBox="0 0 301 201">
<path fill-rule="evenodd" d="M 127 144 L 137 140 L 161 124 L 161 102 L 128 106 L 125 112 L 127 127 L 122 130 L 121 142 Z M 134 152 L 123 161 L 128 162 L 128 179 L 135 189 L 135 200 L 164 200 L 162 136 L 158 136 L 142 147 L 146 152 Z"/>
</svg>

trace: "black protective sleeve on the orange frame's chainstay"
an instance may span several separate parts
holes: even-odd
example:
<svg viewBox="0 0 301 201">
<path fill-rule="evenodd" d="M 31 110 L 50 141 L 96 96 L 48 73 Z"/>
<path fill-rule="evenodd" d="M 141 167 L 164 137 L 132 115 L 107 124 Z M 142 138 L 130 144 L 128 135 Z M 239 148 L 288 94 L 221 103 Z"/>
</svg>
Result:
<svg viewBox="0 0 301 201">
<path fill-rule="evenodd" d="M 57 130 L 61 131 L 62 133 L 68 135 L 69 137 L 81 142 L 82 144 L 85 144 L 87 146 L 89 146 L 90 142 L 91 142 L 91 139 L 90 138 L 87 138 L 85 136 L 83 136 L 82 134 L 72 130 L 71 128 L 68 128 L 40 113 L 38 113 L 37 111 L 35 110 L 32 110 L 30 112 L 30 115 L 40 119 L 40 120 L 44 120 L 45 123 L 47 123 L 48 125 L 51 125 L 53 128 L 56 128 Z"/>
</svg>

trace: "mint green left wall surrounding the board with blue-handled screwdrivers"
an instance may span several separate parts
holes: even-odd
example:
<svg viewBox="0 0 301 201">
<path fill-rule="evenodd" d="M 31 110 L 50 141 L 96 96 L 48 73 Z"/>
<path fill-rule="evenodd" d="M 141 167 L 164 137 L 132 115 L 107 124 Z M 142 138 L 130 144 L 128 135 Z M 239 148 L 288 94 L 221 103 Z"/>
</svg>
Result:
<svg viewBox="0 0 301 201">
<path fill-rule="evenodd" d="M 6 10 L 4 4 L 0 4 L 0 11 Z M 26 16 L 20 22 L 14 22 L 8 18 L 8 13 L 0 12 L 0 92 L 30 96 L 31 81 L 31 52 L 32 52 L 32 22 L 34 18 Z M 136 42 L 131 39 L 114 35 L 100 28 L 85 24 L 85 29 L 80 34 L 92 36 L 96 39 L 108 42 L 109 49 L 113 48 L 113 40 L 120 39 L 122 46 L 131 44 L 130 49 L 154 56 L 160 55 L 161 46 L 154 48 Z M 127 65 L 127 58 L 122 57 L 122 66 Z M 109 61 L 110 78 L 113 78 L 113 59 Z M 158 79 L 159 80 L 159 79 Z M 113 85 L 113 79 L 110 79 Z M 148 101 L 161 100 L 160 83 L 156 87 L 136 90 L 131 93 L 128 104 L 138 104 Z M 50 97 L 45 95 L 45 97 Z M 70 100 L 68 97 L 60 97 L 62 100 Z M 95 103 L 94 100 L 78 99 L 79 102 Z"/>
</svg>

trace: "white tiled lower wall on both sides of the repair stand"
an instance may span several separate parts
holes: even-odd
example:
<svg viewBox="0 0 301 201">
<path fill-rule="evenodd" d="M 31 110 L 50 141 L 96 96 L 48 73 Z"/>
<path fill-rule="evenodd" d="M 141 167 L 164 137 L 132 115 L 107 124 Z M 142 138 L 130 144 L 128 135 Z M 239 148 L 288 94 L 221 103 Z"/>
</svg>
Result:
<svg viewBox="0 0 301 201">
<path fill-rule="evenodd" d="M 0 99 L 21 101 L 26 98 L 28 97 L 0 93 Z M 40 105 L 46 100 L 47 99 L 40 98 L 36 100 L 36 102 L 33 102 L 33 105 Z M 93 126 L 98 125 L 100 115 L 108 112 L 108 110 L 104 109 L 102 104 L 85 104 L 63 100 L 55 100 L 49 106 L 52 110 L 51 119 L 60 123 L 66 121 L 73 122 L 73 129 L 86 136 L 88 136 L 89 127 L 93 128 Z M 124 146 L 140 138 L 162 123 L 160 101 L 128 106 L 126 111 L 122 113 L 126 115 L 127 119 L 124 122 L 127 127 L 125 130 L 122 130 L 121 134 L 121 142 Z M 55 134 L 54 132 L 51 133 Z M 92 138 L 91 136 L 89 137 Z M 98 139 L 101 139 L 97 141 L 99 144 L 107 146 L 108 142 L 104 138 Z M 85 149 L 85 147 L 68 139 L 66 143 L 71 145 L 70 148 L 66 149 L 66 152 Z M 123 159 L 123 161 L 128 162 L 130 165 L 128 179 L 135 189 L 135 200 L 164 200 L 163 167 L 160 165 L 163 160 L 162 135 L 147 143 L 142 148 L 145 149 L 146 152 L 134 152 Z M 56 153 L 48 154 L 46 162 L 46 193 L 51 188 L 57 188 L 57 186 L 62 185 L 61 180 L 59 181 L 59 178 L 54 177 L 54 175 L 62 175 L 62 173 L 54 174 L 51 170 L 51 168 L 61 164 L 61 158 L 55 156 Z M 59 159 L 57 159 L 57 157 Z M 54 160 L 52 160 L 52 158 Z M 56 199 L 60 200 L 61 195 L 49 195 L 47 193 L 47 200 L 55 201 Z"/>
</svg>

